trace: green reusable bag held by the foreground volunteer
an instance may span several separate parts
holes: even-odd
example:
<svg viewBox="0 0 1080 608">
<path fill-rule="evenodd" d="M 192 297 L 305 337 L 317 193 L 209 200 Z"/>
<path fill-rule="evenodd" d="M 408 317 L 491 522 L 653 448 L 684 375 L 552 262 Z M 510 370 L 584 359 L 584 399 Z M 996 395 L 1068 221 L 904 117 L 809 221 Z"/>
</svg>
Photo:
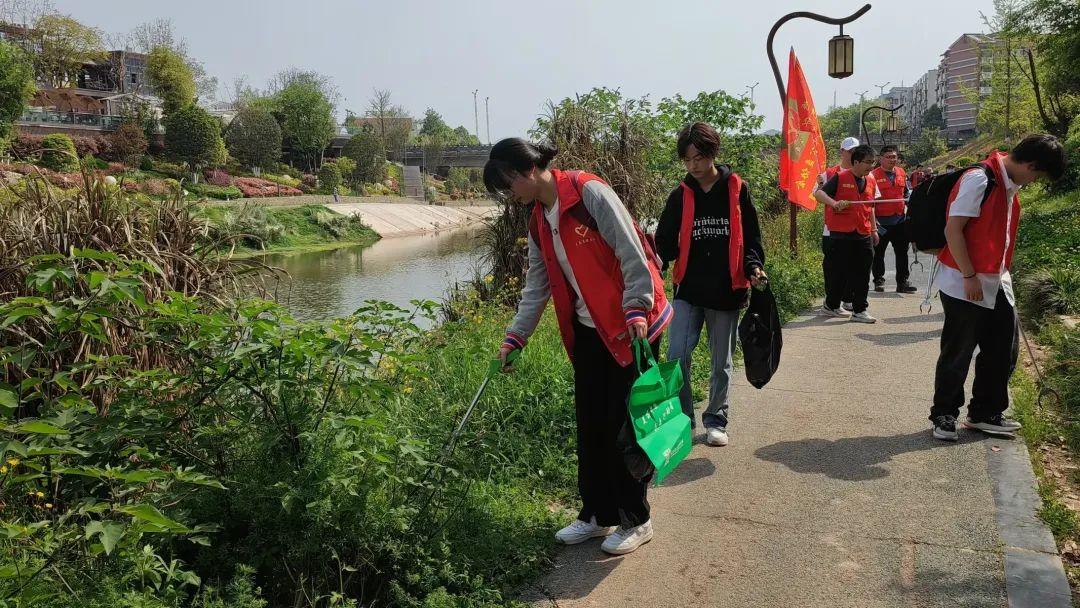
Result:
<svg viewBox="0 0 1080 608">
<path fill-rule="evenodd" d="M 692 445 L 690 418 L 683 414 L 678 393 L 683 367 L 678 361 L 657 363 L 645 340 L 634 341 L 634 361 L 640 374 L 630 388 L 627 408 L 637 445 L 656 468 L 659 484 L 678 467 Z"/>
</svg>

